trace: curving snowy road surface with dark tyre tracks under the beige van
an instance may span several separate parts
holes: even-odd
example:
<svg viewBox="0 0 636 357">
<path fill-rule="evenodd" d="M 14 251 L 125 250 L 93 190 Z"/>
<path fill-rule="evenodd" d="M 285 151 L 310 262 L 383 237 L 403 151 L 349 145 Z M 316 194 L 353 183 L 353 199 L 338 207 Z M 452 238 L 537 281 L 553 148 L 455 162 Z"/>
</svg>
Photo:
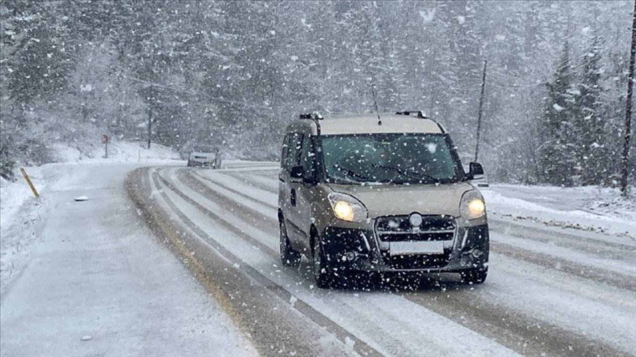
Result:
<svg viewBox="0 0 636 357">
<path fill-rule="evenodd" d="M 156 234 L 229 297 L 261 354 L 636 354 L 628 236 L 497 217 L 485 284 L 452 274 L 317 290 L 278 258 L 277 167 L 143 168 L 127 188 Z"/>
</svg>

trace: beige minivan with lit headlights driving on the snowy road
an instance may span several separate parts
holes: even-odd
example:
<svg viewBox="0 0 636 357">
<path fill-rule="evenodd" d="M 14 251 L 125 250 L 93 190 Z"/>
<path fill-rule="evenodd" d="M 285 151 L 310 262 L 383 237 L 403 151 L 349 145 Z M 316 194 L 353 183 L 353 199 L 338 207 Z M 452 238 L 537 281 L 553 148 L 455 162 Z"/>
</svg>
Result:
<svg viewBox="0 0 636 357">
<path fill-rule="evenodd" d="M 422 112 L 301 114 L 279 175 L 280 259 L 312 262 L 316 285 L 348 273 L 488 273 L 480 192 L 443 126 Z"/>
</svg>

